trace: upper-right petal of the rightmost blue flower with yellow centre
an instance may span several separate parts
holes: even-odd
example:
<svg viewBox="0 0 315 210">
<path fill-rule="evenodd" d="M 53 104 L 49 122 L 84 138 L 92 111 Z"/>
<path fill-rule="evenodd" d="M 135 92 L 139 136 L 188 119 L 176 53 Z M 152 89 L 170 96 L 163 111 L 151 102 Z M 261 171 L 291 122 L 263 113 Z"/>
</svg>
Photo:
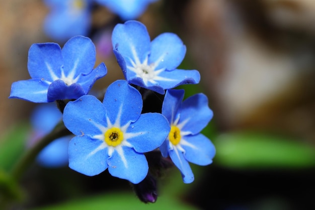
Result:
<svg viewBox="0 0 315 210">
<path fill-rule="evenodd" d="M 187 121 L 181 130 L 189 131 L 191 134 L 199 133 L 213 117 L 213 112 L 208 106 L 208 98 L 202 93 L 187 98 L 179 112 L 181 118 L 178 123 Z"/>
</svg>

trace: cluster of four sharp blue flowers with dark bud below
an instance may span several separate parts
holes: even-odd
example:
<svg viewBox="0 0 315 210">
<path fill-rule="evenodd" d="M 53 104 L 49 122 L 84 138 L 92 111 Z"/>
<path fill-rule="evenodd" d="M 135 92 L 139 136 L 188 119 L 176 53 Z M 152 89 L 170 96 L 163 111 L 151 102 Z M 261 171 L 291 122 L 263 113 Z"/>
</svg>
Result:
<svg viewBox="0 0 315 210">
<path fill-rule="evenodd" d="M 197 70 L 177 69 L 186 54 L 177 35 L 164 33 L 151 42 L 143 24 L 127 21 L 114 28 L 112 45 L 125 80 L 109 85 L 102 102 L 88 93 L 107 69 L 104 63 L 93 69 L 95 47 L 82 36 L 71 38 L 62 50 L 54 43 L 32 45 L 32 79 L 13 83 L 10 98 L 63 103 L 64 126 L 75 135 L 68 144 L 69 167 L 88 176 L 108 169 L 138 184 L 142 201 L 154 202 L 154 176 L 159 174 L 154 170 L 172 160 L 190 183 L 189 162 L 212 162 L 215 148 L 200 132 L 213 113 L 204 94 L 183 101 L 184 90 L 173 89 L 200 81 Z M 161 113 L 143 112 L 145 92 L 165 94 Z"/>
</svg>

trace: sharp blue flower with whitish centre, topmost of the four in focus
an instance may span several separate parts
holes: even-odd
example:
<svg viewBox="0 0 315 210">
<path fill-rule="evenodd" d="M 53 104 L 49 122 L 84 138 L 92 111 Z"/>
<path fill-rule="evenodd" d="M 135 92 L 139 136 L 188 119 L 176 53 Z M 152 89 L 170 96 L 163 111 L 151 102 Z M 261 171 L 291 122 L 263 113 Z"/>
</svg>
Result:
<svg viewBox="0 0 315 210">
<path fill-rule="evenodd" d="M 175 34 L 164 33 L 150 42 L 143 24 L 127 21 L 114 28 L 112 44 L 130 84 L 164 94 L 167 89 L 200 81 L 197 70 L 176 69 L 185 57 L 186 47 Z"/>
</svg>

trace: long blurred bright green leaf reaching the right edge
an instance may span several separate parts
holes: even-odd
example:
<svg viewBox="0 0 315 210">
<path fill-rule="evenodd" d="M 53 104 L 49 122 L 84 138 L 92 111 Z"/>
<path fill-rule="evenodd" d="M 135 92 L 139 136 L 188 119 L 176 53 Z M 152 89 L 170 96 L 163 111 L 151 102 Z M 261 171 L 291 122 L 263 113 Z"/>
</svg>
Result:
<svg viewBox="0 0 315 210">
<path fill-rule="evenodd" d="M 213 162 L 231 168 L 305 168 L 315 166 L 315 147 L 303 141 L 259 132 L 218 136 Z"/>
</svg>

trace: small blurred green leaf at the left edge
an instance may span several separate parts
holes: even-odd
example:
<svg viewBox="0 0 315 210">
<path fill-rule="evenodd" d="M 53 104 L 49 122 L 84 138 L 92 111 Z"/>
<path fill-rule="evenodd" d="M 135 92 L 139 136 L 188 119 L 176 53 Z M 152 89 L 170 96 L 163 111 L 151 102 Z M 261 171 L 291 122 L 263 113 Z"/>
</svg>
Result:
<svg viewBox="0 0 315 210">
<path fill-rule="evenodd" d="M 11 128 L 0 139 L 0 169 L 11 170 L 25 151 L 30 126 L 23 123 Z"/>
</svg>

